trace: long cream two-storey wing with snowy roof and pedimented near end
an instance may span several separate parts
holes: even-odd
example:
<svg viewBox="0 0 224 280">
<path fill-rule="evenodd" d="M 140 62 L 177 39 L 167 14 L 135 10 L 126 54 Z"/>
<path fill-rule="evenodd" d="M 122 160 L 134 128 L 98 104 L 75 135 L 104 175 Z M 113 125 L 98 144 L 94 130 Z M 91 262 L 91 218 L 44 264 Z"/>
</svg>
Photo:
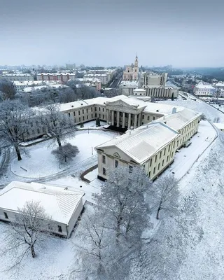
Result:
<svg viewBox="0 0 224 280">
<path fill-rule="evenodd" d="M 150 179 L 156 179 L 172 162 L 178 148 L 185 146 L 198 130 L 201 113 L 182 109 L 163 116 L 116 139 L 95 147 L 98 154 L 98 178 L 108 179 L 114 167 L 143 167 Z"/>
</svg>

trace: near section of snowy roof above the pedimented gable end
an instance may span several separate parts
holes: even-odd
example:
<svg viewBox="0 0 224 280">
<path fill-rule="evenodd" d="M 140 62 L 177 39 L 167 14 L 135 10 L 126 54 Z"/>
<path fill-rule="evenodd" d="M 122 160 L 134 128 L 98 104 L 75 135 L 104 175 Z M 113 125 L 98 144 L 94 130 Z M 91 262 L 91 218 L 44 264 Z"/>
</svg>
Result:
<svg viewBox="0 0 224 280">
<path fill-rule="evenodd" d="M 95 147 L 95 149 L 102 150 L 113 146 L 123 151 L 135 162 L 143 164 L 176 137 L 179 137 L 179 132 L 164 123 L 150 123 L 130 130 L 120 137 Z"/>
</svg>

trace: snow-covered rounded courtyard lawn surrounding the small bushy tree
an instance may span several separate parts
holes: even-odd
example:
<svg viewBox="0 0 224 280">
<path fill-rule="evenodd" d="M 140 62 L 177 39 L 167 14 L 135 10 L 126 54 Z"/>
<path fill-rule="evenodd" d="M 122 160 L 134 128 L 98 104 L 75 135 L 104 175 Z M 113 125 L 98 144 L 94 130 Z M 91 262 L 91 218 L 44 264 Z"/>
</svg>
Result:
<svg viewBox="0 0 224 280">
<path fill-rule="evenodd" d="M 27 147 L 26 151 L 29 155 L 23 153 L 22 160 L 18 162 L 15 158 L 11 163 L 11 171 L 18 176 L 27 178 L 41 178 L 50 176 L 70 166 L 78 166 L 80 162 L 97 154 L 94 147 L 102 144 L 113 137 L 118 136 L 116 132 L 104 132 L 94 130 L 84 130 L 76 132 L 76 137 L 66 139 L 67 143 L 71 143 L 78 147 L 79 153 L 76 158 L 73 158 L 69 164 L 59 162 L 55 155 L 52 155 L 52 150 L 57 148 L 57 145 L 50 145 L 52 140 L 48 140 L 31 147 Z M 22 167 L 22 168 L 21 168 Z M 27 171 L 25 171 L 27 170 Z"/>
</svg>

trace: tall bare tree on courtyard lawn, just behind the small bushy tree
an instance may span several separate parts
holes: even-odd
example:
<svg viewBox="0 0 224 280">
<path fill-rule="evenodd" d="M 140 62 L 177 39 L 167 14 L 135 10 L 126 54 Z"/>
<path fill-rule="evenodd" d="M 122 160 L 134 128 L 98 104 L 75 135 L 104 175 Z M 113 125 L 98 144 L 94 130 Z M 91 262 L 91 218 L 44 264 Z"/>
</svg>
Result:
<svg viewBox="0 0 224 280">
<path fill-rule="evenodd" d="M 62 139 L 71 137 L 76 132 L 73 118 L 59 111 L 57 104 L 50 104 L 40 113 L 40 121 L 43 127 L 57 140 L 58 146 L 62 146 Z"/>
</svg>

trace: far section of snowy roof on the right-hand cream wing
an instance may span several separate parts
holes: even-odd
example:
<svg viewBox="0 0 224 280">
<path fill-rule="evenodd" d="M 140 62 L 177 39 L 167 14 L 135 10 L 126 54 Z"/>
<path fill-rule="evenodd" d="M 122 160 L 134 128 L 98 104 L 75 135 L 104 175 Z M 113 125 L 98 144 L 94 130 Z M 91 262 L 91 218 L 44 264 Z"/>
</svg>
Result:
<svg viewBox="0 0 224 280">
<path fill-rule="evenodd" d="M 169 127 L 172 127 L 174 130 L 181 130 L 182 127 L 188 125 L 194 119 L 201 116 L 202 113 L 197 113 L 190 109 L 183 109 L 177 113 L 173 113 L 168 116 L 163 116 L 157 121 L 165 122 Z"/>
</svg>

